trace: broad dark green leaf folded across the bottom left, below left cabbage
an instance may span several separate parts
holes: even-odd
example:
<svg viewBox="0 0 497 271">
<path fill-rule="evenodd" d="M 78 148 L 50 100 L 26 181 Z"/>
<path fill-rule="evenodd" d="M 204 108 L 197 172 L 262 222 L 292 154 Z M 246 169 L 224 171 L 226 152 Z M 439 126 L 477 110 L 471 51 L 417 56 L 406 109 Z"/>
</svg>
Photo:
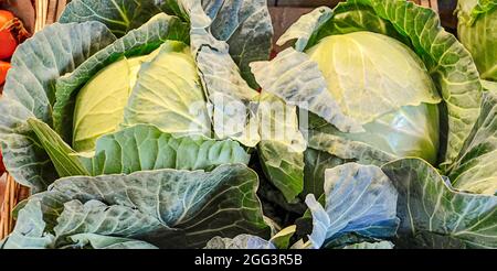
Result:
<svg viewBox="0 0 497 271">
<path fill-rule="evenodd" d="M 210 173 L 158 170 L 61 178 L 30 198 L 3 247 L 203 248 L 215 236 L 268 238 L 257 182 L 242 164 Z"/>
</svg>

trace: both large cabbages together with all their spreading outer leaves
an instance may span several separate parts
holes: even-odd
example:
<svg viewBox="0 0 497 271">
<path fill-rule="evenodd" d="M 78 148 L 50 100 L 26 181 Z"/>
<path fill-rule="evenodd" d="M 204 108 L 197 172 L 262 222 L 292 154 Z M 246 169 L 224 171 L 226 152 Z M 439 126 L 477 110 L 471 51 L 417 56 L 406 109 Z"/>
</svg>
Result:
<svg viewBox="0 0 497 271">
<path fill-rule="evenodd" d="M 497 87 L 434 11 L 319 8 L 268 61 L 264 0 L 115 2 L 12 58 L 2 248 L 497 247 Z"/>
</svg>

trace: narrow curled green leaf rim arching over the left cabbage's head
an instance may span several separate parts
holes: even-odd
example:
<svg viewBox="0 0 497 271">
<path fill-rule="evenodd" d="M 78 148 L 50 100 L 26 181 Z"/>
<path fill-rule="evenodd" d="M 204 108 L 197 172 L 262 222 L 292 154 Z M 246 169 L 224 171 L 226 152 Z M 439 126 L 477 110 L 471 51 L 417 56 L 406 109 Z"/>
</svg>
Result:
<svg viewBox="0 0 497 271">
<path fill-rule="evenodd" d="M 53 109 L 55 131 L 66 142 L 72 142 L 76 95 L 101 69 L 123 56 L 149 54 L 168 40 L 188 42 L 188 25 L 176 17 L 161 13 L 86 59 L 73 73 L 57 78 L 56 102 Z"/>
</svg>

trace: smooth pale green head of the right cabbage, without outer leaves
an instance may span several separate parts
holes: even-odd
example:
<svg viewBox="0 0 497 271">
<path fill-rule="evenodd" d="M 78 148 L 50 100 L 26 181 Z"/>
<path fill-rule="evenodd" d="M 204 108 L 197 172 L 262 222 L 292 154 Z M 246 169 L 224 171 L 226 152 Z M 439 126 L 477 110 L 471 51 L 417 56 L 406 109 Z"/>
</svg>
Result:
<svg viewBox="0 0 497 271">
<path fill-rule="evenodd" d="M 337 133 L 396 156 L 436 162 L 440 98 L 411 48 L 387 35 L 353 32 L 325 37 L 307 54 L 343 113 L 364 129 Z"/>
</svg>

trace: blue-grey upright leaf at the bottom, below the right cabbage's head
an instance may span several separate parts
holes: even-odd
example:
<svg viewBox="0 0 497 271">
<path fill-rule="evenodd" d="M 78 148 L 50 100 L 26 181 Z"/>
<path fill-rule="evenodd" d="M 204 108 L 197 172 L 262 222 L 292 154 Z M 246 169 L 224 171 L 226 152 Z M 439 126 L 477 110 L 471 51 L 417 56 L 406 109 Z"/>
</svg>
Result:
<svg viewBox="0 0 497 271">
<path fill-rule="evenodd" d="M 306 204 L 313 214 L 311 247 L 320 248 L 347 232 L 370 238 L 395 235 L 398 193 L 380 167 L 348 163 L 326 171 L 325 207 L 314 195 Z"/>
</svg>

